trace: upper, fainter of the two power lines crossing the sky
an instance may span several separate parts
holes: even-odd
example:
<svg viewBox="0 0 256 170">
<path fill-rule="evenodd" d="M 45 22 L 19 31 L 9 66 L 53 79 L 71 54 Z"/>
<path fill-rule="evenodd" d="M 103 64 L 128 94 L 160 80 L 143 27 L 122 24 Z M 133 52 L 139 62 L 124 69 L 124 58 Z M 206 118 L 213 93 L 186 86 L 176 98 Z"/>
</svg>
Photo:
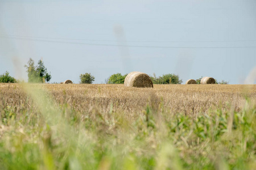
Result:
<svg viewBox="0 0 256 170">
<path fill-rule="evenodd" d="M 32 39 L 56 39 L 56 40 L 79 40 L 79 41 L 109 41 L 109 42 L 251 42 L 256 40 L 226 40 L 226 41 L 118 41 L 118 40 L 93 40 L 93 39 L 67 39 L 67 38 L 52 38 L 52 37 L 34 37 L 34 36 L 17 36 L 17 35 L 0 35 L 5 37 L 24 37 Z"/>
</svg>

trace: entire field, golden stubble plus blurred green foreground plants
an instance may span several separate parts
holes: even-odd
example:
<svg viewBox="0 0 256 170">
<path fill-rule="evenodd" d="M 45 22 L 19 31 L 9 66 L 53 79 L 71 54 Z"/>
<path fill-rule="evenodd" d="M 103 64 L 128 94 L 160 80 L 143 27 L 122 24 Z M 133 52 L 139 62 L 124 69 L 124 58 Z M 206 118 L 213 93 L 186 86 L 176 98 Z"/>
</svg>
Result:
<svg viewBox="0 0 256 170">
<path fill-rule="evenodd" d="M 2 169 L 256 169 L 256 85 L 0 84 Z"/>
</svg>

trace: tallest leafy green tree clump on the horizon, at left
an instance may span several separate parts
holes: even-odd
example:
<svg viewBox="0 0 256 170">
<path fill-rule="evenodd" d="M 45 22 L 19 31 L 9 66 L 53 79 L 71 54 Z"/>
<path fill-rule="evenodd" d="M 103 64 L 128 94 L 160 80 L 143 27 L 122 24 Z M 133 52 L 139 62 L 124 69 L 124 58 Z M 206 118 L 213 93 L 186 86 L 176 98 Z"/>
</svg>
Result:
<svg viewBox="0 0 256 170">
<path fill-rule="evenodd" d="M 41 59 L 38 61 L 38 65 L 35 66 L 34 60 L 30 58 L 24 67 L 27 68 L 29 83 L 49 82 L 52 78 L 51 73 L 47 73 L 47 69 Z"/>
</svg>

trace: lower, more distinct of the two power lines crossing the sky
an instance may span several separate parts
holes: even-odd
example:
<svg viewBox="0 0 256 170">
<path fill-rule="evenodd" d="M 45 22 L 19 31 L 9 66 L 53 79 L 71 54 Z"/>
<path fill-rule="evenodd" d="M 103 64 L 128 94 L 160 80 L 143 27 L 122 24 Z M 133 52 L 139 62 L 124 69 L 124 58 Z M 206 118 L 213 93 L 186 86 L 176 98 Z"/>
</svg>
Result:
<svg viewBox="0 0 256 170">
<path fill-rule="evenodd" d="M 0 36 L 0 38 L 2 38 L 2 39 L 13 39 L 13 40 L 38 41 L 38 42 L 52 42 L 52 43 L 61 43 L 61 44 L 80 44 L 80 45 L 96 45 L 96 46 L 126 46 L 126 47 L 134 47 L 134 48 L 190 48 L 190 49 L 256 48 L 256 46 L 146 46 L 146 45 L 113 45 L 113 44 L 93 44 L 93 43 L 86 43 L 86 42 L 67 42 L 67 41 L 27 39 L 27 38 L 6 37 L 6 36 Z"/>
</svg>

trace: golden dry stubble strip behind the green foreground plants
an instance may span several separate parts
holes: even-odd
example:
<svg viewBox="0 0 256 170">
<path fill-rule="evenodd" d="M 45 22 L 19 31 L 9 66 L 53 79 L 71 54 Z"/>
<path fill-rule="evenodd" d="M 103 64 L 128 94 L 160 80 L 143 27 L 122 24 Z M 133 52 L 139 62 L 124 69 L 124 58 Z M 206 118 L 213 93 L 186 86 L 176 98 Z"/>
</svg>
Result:
<svg viewBox="0 0 256 170">
<path fill-rule="evenodd" d="M 245 104 L 245 96 L 256 101 L 256 85 L 220 84 L 155 84 L 154 88 L 124 87 L 123 84 L 35 84 L 42 86 L 55 99 L 56 105 L 67 103 L 78 112 L 101 113 L 109 111 L 125 112 L 134 117 L 147 104 L 159 106 L 161 103 L 170 113 L 196 115 L 208 112 L 209 108 L 223 109 L 234 105 L 235 111 Z M 27 96 L 19 84 L 0 84 L 0 95 L 7 105 L 26 103 Z M 29 99 L 29 98 L 28 98 Z M 28 103 L 31 105 L 30 103 Z"/>
</svg>

